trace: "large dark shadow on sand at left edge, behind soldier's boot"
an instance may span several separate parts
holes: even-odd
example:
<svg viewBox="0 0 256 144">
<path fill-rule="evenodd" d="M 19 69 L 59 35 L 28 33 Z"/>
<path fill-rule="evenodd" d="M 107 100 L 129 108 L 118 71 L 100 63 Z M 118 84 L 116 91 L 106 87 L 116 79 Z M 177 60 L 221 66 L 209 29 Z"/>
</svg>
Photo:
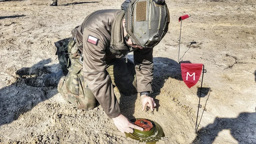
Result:
<svg viewBox="0 0 256 144">
<path fill-rule="evenodd" d="M 48 68 L 58 67 L 57 64 L 44 66 L 50 62 L 50 59 L 42 60 L 30 68 L 17 70 L 12 76 L 15 81 L 0 89 L 0 126 L 17 120 L 21 114 L 58 92 L 52 92 L 53 87 L 41 87 L 44 76 L 51 73 Z"/>
</svg>

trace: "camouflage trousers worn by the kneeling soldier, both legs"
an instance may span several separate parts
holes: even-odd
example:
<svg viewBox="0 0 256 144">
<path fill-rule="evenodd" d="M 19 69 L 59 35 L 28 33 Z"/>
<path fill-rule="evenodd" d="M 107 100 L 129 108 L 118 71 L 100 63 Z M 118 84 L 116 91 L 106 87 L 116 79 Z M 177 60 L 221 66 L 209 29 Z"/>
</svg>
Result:
<svg viewBox="0 0 256 144">
<path fill-rule="evenodd" d="M 95 108 L 97 100 L 88 87 L 83 76 L 83 64 L 76 42 L 67 38 L 55 43 L 59 62 L 63 73 L 58 84 L 58 92 L 65 100 L 77 108 L 89 110 Z M 111 77 L 112 84 L 120 92 L 131 95 L 137 92 L 135 65 L 131 60 L 126 63 L 123 58 L 113 59 L 106 63 L 106 74 Z"/>
</svg>

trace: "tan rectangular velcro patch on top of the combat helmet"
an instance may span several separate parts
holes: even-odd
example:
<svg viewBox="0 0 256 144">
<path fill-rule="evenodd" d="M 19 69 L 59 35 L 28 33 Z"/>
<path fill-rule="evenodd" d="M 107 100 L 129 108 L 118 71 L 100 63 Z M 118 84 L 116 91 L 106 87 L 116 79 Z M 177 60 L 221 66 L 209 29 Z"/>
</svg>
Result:
<svg viewBox="0 0 256 144">
<path fill-rule="evenodd" d="M 147 1 L 137 2 L 136 4 L 136 21 L 147 20 Z"/>
</svg>

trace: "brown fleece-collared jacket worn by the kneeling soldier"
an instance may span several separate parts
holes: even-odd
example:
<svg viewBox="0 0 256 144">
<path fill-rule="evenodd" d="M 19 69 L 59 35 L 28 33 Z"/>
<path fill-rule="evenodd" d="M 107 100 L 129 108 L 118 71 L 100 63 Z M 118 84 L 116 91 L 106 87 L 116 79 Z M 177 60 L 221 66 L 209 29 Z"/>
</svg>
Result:
<svg viewBox="0 0 256 144">
<path fill-rule="evenodd" d="M 123 18 L 123 10 L 99 10 L 88 15 L 80 26 L 72 30 L 72 36 L 84 56 L 84 80 L 110 118 L 119 116 L 120 108 L 110 76 L 105 70 L 106 62 L 134 51 L 137 90 L 153 92 L 153 48 L 127 47 L 124 44 Z M 96 43 L 91 41 L 92 38 Z"/>
</svg>

